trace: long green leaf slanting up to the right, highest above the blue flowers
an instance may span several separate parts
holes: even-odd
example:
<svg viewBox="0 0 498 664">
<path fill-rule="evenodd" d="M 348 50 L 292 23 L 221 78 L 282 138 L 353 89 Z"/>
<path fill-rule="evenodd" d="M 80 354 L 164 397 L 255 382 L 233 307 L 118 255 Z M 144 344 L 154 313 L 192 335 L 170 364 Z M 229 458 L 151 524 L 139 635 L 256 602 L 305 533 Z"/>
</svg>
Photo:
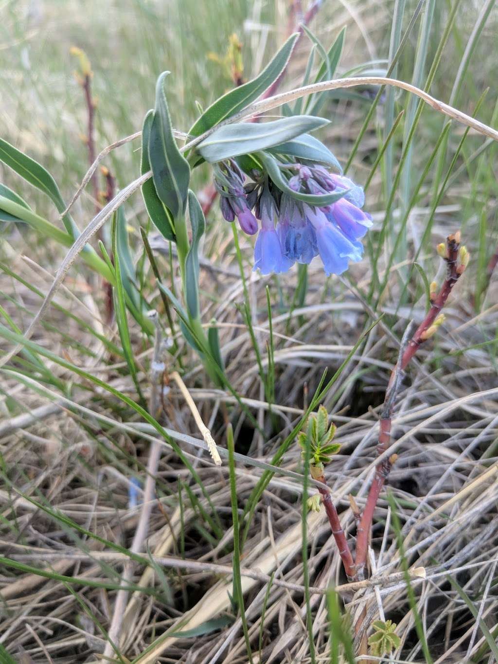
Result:
<svg viewBox="0 0 498 664">
<path fill-rule="evenodd" d="M 291 35 L 276 56 L 266 65 L 259 76 L 252 81 L 230 90 L 220 97 L 214 104 L 205 110 L 202 116 L 193 125 L 189 133 L 200 136 L 214 125 L 234 116 L 256 100 L 272 83 L 282 74 L 291 56 L 292 49 L 298 35 Z"/>
</svg>

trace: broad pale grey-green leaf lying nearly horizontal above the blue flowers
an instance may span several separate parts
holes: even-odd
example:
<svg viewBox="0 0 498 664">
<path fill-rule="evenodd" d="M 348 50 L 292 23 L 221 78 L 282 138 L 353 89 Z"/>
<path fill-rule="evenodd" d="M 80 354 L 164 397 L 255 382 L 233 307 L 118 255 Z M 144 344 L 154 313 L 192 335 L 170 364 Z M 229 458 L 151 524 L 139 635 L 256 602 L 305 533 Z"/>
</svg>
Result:
<svg viewBox="0 0 498 664">
<path fill-rule="evenodd" d="M 293 116 L 273 122 L 224 125 L 205 138 L 197 150 L 210 163 L 265 150 L 313 131 L 329 121 L 313 116 Z"/>
</svg>

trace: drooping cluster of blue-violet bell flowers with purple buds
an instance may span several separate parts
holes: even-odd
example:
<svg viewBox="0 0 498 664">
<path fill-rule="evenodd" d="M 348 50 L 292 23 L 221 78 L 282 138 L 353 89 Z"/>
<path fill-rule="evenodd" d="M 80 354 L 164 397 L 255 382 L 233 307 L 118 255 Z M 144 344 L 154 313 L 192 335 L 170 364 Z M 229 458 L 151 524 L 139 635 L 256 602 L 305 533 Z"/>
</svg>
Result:
<svg viewBox="0 0 498 664">
<path fill-rule="evenodd" d="M 295 161 L 284 167 L 294 173 L 288 180 L 291 192 L 345 193 L 330 205 L 309 205 L 281 191 L 261 171 L 252 170 L 252 181 L 246 181 L 246 174 L 230 160 L 218 164 L 214 173 L 222 215 L 227 221 L 237 218 L 249 235 L 259 229 L 254 270 L 262 274 L 287 272 L 295 262 L 309 264 L 315 256 L 320 256 L 325 274 L 342 274 L 350 261 L 363 257 L 360 240 L 372 226 L 371 216 L 361 209 L 363 189 L 319 164 Z"/>
</svg>

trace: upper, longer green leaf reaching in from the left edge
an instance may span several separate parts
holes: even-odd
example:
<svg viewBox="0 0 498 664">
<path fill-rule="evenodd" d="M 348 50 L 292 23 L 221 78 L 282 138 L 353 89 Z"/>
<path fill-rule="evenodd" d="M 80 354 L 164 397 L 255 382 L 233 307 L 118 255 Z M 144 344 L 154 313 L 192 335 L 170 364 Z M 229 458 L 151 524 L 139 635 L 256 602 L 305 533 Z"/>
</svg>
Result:
<svg viewBox="0 0 498 664">
<path fill-rule="evenodd" d="M 0 161 L 3 161 L 5 165 L 9 166 L 18 175 L 21 175 L 30 185 L 37 187 L 37 189 L 46 194 L 59 212 L 64 212 L 66 203 L 64 203 L 60 195 L 55 180 L 35 159 L 31 159 L 31 157 L 28 157 L 28 155 L 25 155 L 25 153 L 0 138 Z M 70 214 L 64 214 L 62 223 L 70 236 L 76 240 L 80 231 Z"/>
</svg>

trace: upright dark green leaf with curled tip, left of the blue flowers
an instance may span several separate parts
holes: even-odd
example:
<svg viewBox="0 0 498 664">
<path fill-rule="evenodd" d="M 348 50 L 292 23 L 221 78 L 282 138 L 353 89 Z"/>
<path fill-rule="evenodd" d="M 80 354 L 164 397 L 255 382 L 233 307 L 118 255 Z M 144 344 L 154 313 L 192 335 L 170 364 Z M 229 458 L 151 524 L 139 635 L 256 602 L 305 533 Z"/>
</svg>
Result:
<svg viewBox="0 0 498 664">
<path fill-rule="evenodd" d="M 178 149 L 165 94 L 163 72 L 157 79 L 155 110 L 149 133 L 149 162 L 155 191 L 173 219 L 185 212 L 189 191 L 190 167 Z"/>
</svg>

